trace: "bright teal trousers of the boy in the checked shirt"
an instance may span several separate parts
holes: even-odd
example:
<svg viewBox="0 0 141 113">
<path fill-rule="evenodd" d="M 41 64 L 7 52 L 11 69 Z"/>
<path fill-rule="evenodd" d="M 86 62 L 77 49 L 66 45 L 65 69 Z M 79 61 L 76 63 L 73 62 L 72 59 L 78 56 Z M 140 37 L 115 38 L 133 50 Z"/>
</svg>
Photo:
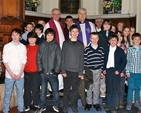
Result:
<svg viewBox="0 0 141 113">
<path fill-rule="evenodd" d="M 141 74 L 130 73 L 128 80 L 128 94 L 127 101 L 132 101 L 133 91 L 135 91 L 135 101 L 140 100 L 140 85 L 141 85 Z"/>
</svg>

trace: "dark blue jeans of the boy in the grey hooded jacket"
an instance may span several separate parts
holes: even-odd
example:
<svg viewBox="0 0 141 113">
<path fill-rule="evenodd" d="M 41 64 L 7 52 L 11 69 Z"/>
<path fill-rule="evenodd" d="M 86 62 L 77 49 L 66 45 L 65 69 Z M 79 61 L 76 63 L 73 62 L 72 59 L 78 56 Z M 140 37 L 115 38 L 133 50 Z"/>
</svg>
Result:
<svg viewBox="0 0 141 113">
<path fill-rule="evenodd" d="M 47 85 L 50 83 L 53 94 L 53 105 L 59 107 L 59 82 L 58 77 L 53 74 L 41 74 L 41 96 L 39 105 L 41 108 L 46 108 L 46 93 Z"/>
</svg>

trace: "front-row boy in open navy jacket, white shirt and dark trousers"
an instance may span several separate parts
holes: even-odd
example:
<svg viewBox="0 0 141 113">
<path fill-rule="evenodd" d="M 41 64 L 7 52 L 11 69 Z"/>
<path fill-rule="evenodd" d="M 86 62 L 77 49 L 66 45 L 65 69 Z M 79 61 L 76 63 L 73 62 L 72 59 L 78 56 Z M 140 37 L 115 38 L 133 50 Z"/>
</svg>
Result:
<svg viewBox="0 0 141 113">
<path fill-rule="evenodd" d="M 117 46 L 118 36 L 110 35 L 110 45 L 104 50 L 104 71 L 106 76 L 106 111 L 117 113 L 118 92 L 120 85 L 120 74 L 126 66 L 126 55 Z"/>
</svg>

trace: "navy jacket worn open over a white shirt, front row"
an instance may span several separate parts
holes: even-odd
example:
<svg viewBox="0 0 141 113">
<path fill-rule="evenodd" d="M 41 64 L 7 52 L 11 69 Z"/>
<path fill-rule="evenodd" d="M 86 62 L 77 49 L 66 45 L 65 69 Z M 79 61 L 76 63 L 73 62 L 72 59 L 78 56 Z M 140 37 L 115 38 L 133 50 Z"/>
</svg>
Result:
<svg viewBox="0 0 141 113">
<path fill-rule="evenodd" d="M 109 48 L 110 46 L 108 46 L 107 48 L 105 48 L 105 54 L 104 54 L 104 70 L 106 70 L 106 65 L 107 65 L 107 61 L 108 61 L 108 55 L 109 55 Z M 117 46 L 115 53 L 114 53 L 114 64 L 115 64 L 115 71 L 117 70 L 119 73 L 121 73 L 126 66 L 126 55 L 123 51 L 123 49 L 121 49 L 120 47 Z"/>
</svg>

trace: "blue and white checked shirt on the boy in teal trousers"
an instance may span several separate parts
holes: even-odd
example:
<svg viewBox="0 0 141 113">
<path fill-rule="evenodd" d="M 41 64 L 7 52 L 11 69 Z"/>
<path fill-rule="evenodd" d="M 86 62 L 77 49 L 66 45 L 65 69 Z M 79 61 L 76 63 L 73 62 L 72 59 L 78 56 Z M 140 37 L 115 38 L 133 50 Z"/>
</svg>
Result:
<svg viewBox="0 0 141 113">
<path fill-rule="evenodd" d="M 126 73 L 141 73 L 141 46 L 129 47 L 127 50 Z"/>
</svg>

